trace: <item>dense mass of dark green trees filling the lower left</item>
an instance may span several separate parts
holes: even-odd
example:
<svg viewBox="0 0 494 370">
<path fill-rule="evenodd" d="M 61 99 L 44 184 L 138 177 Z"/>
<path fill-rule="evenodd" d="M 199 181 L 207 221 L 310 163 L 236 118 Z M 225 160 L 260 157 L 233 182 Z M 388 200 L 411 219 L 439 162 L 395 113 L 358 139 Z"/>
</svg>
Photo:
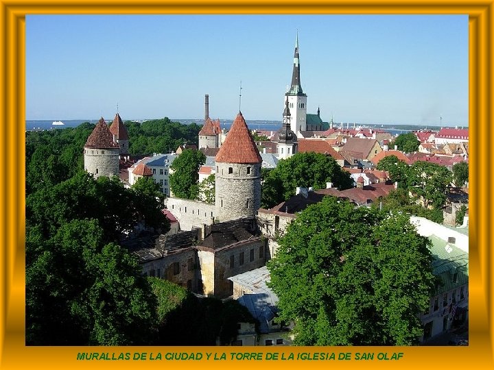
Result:
<svg viewBox="0 0 494 370">
<path fill-rule="evenodd" d="M 136 258 L 117 245 L 139 221 L 169 229 L 148 185 L 126 189 L 117 177 L 80 171 L 27 197 L 28 344 L 149 343 L 155 297 Z"/>
</svg>

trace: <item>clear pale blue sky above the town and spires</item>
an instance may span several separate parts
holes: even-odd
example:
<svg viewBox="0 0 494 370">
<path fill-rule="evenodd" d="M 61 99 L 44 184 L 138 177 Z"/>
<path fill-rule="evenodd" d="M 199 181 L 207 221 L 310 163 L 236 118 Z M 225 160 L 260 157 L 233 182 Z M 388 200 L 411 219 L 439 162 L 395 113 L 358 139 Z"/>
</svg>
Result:
<svg viewBox="0 0 494 370">
<path fill-rule="evenodd" d="M 297 32 L 307 113 L 468 125 L 467 15 L 28 15 L 26 119 L 281 121 Z"/>
</svg>

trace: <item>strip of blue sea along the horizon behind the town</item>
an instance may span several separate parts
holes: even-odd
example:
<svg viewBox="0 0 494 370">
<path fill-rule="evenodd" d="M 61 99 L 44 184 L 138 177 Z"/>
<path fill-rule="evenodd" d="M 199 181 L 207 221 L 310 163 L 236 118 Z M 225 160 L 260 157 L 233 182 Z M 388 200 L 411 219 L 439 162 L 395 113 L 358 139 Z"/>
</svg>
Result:
<svg viewBox="0 0 494 370">
<path fill-rule="evenodd" d="M 49 119 L 43 119 L 43 120 L 26 120 L 25 121 L 25 130 L 26 131 L 43 131 L 43 130 L 60 130 L 65 127 L 77 127 L 81 123 L 84 122 L 89 122 L 89 123 L 97 123 L 97 120 L 93 119 L 69 119 L 69 120 L 62 120 L 64 123 L 63 125 L 53 125 L 54 121 L 60 121 L 58 119 L 56 120 L 49 120 Z M 139 119 L 139 120 L 132 120 L 132 121 L 137 121 L 137 122 L 145 122 L 148 121 L 147 119 Z M 202 125 L 204 122 L 204 119 L 170 119 L 172 122 L 180 122 L 183 125 L 188 125 L 189 123 L 197 123 L 198 125 Z M 233 120 L 231 119 L 220 119 L 220 123 L 222 128 L 226 128 L 227 130 L 231 127 Z M 246 123 L 250 130 L 266 130 L 266 131 L 277 131 L 281 128 L 281 121 L 264 121 L 264 120 L 246 120 Z M 373 128 L 374 130 L 384 130 L 387 132 L 390 132 L 393 136 L 397 136 L 399 134 L 406 134 L 407 132 L 413 132 L 413 131 L 420 131 L 420 130 L 432 130 L 432 131 L 439 131 L 441 129 L 440 126 L 425 126 L 425 125 L 385 125 L 385 124 L 371 124 L 367 125 L 364 123 L 334 123 L 335 127 L 340 127 L 340 125 L 343 128 L 349 127 L 364 127 L 364 128 Z"/>
</svg>

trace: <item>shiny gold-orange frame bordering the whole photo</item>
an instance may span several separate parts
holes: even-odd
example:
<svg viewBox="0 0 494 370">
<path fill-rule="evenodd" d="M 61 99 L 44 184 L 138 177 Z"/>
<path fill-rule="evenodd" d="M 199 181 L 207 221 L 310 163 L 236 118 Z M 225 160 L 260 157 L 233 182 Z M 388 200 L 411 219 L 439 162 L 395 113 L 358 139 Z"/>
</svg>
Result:
<svg viewBox="0 0 494 370">
<path fill-rule="evenodd" d="M 419 367 L 493 368 L 493 252 L 490 193 L 494 151 L 494 0 L 0 0 L 0 368 Z M 25 15 L 26 14 L 468 14 L 470 145 L 469 347 L 255 347 L 244 351 L 403 352 L 398 361 L 81 361 L 79 351 L 242 351 L 242 347 L 25 347 Z M 287 356 L 287 355 L 286 355 Z M 352 356 L 353 357 L 353 356 Z M 205 358 L 205 356 L 204 356 Z M 338 354 L 337 354 L 338 358 Z"/>
</svg>

